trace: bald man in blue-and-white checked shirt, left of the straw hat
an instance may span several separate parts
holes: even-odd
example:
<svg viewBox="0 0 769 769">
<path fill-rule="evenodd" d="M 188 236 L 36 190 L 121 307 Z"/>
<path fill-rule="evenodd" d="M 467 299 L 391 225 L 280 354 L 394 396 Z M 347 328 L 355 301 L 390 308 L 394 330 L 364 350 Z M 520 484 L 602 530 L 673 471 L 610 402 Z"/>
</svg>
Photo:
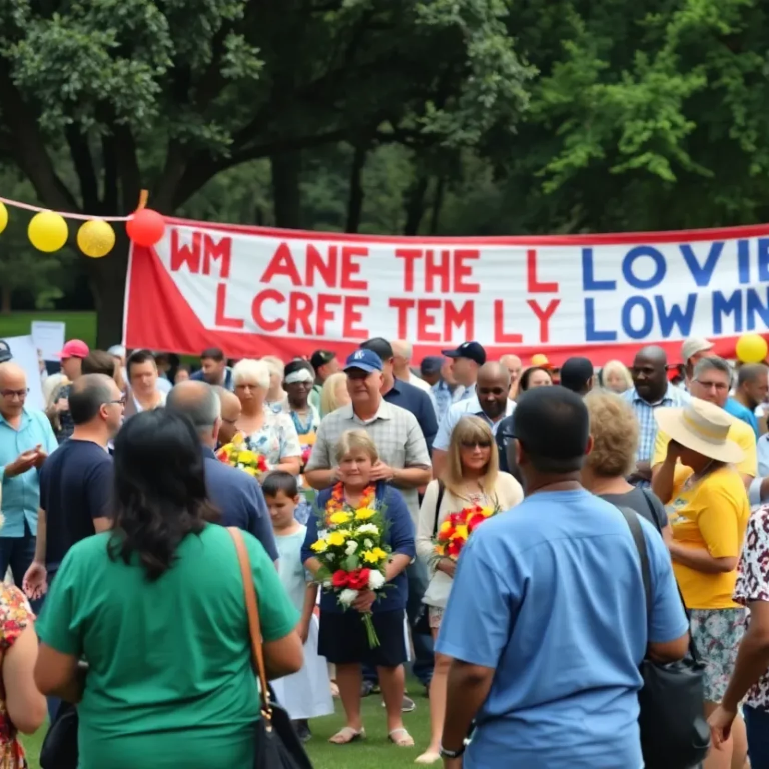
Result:
<svg viewBox="0 0 769 769">
<path fill-rule="evenodd" d="M 641 348 L 631 368 L 634 388 L 622 397 L 628 401 L 638 419 L 638 451 L 635 470 L 628 477 L 634 486 L 651 486 L 651 458 L 657 439 L 657 421 L 654 409 L 665 406 L 684 406 L 689 394 L 667 381 L 667 354 L 657 345 Z"/>
</svg>

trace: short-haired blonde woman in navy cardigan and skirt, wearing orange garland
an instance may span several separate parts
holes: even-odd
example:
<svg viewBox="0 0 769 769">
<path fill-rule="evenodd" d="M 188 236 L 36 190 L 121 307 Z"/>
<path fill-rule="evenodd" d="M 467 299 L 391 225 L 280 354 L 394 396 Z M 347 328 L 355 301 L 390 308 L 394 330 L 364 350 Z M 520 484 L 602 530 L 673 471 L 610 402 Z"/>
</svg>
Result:
<svg viewBox="0 0 769 769">
<path fill-rule="evenodd" d="M 345 708 L 346 724 L 331 739 L 342 745 L 366 736 L 361 721 L 361 666 L 375 665 L 379 685 L 387 710 L 387 730 L 391 742 L 398 747 L 413 747 L 414 740 L 403 726 L 401 705 L 405 686 L 403 663 L 408 659 L 406 647 L 406 600 L 408 581 L 406 567 L 414 558 L 414 523 L 401 496 L 381 481 L 371 481 L 371 468 L 379 454 L 374 441 L 365 430 L 348 430 L 336 446 L 336 461 L 340 480 L 331 488 L 318 493 L 318 510 L 355 511 L 364 505 L 378 504 L 387 521 L 384 540 L 391 548 L 385 568 L 389 588 L 375 601 L 371 591 L 361 591 L 351 606 L 343 611 L 332 593 L 321 595 L 321 618 L 318 630 L 318 654 L 336 665 L 339 696 Z M 372 499 L 374 500 L 372 502 Z M 311 550 L 318 539 L 315 517 L 307 524 L 307 537 L 301 550 L 305 568 L 317 574 L 321 561 Z M 361 613 L 370 613 L 380 645 L 368 644 Z"/>
</svg>

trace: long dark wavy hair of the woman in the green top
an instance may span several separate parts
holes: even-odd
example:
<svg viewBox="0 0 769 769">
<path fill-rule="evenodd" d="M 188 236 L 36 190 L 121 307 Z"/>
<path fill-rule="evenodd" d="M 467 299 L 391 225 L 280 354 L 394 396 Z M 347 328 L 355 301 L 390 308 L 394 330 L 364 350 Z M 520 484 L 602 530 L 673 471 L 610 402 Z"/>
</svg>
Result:
<svg viewBox="0 0 769 769">
<path fill-rule="evenodd" d="M 134 555 L 150 581 L 171 568 L 187 534 L 218 518 L 205 491 L 203 454 L 191 421 L 156 408 L 125 422 L 115 438 L 115 522 L 110 558 Z"/>
</svg>

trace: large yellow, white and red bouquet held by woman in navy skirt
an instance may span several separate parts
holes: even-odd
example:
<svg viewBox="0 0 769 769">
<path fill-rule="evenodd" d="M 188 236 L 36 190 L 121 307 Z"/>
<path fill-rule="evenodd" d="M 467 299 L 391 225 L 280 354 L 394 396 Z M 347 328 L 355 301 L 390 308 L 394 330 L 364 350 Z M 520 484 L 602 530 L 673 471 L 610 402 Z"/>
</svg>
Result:
<svg viewBox="0 0 769 769">
<path fill-rule="evenodd" d="M 384 542 L 387 524 L 384 508 L 375 501 L 374 486 L 365 489 L 361 504 L 353 509 L 345 503 L 342 484 L 336 484 L 318 518 L 318 539 L 311 544 L 311 550 L 322 564 L 316 579 L 324 591 L 335 593 L 345 609 L 361 591 L 381 595 L 386 588 L 384 568 L 391 548 Z M 361 620 L 373 649 L 379 639 L 371 614 L 361 614 Z"/>
</svg>

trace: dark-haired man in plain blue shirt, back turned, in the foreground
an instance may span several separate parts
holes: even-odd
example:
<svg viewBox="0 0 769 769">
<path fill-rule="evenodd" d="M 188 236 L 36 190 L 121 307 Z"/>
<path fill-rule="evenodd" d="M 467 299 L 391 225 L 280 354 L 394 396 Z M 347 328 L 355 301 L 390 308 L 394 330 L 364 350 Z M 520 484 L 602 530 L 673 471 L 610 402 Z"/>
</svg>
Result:
<svg viewBox="0 0 769 769">
<path fill-rule="evenodd" d="M 646 654 L 684 657 L 688 623 L 667 548 L 641 519 L 647 615 L 627 522 L 580 484 L 589 430 L 582 399 L 565 388 L 518 401 L 514 448 L 526 498 L 472 534 L 436 647 L 454 659 L 446 769 L 643 767 L 638 667 Z"/>
</svg>

